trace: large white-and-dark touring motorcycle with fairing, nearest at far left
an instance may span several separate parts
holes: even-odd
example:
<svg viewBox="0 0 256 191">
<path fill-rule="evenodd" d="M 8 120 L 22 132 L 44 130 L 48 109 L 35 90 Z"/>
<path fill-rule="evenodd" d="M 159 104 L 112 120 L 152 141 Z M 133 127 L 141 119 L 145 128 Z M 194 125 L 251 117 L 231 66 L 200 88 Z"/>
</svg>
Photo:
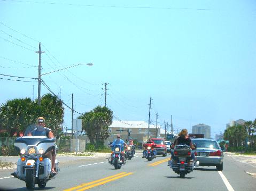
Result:
<svg viewBox="0 0 256 191">
<path fill-rule="evenodd" d="M 56 174 L 51 173 L 51 160 L 43 157 L 45 153 L 55 149 L 55 138 L 47 138 L 44 128 L 38 125 L 28 126 L 24 137 L 15 139 L 14 146 L 20 151 L 17 171 L 11 173 L 15 178 L 26 182 L 28 189 L 35 185 L 45 188 L 46 182 L 55 178 L 60 171 L 59 162 L 55 160 Z"/>
</svg>

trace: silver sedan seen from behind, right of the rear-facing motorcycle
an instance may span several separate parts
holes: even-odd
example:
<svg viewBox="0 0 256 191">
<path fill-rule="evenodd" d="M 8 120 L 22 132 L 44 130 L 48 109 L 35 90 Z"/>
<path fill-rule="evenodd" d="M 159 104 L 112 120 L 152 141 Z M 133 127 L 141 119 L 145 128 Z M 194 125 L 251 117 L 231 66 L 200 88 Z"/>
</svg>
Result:
<svg viewBox="0 0 256 191">
<path fill-rule="evenodd" d="M 200 166 L 215 166 L 217 170 L 223 170 L 224 155 L 216 140 L 196 138 L 192 143 L 197 146 L 195 155 Z"/>
</svg>

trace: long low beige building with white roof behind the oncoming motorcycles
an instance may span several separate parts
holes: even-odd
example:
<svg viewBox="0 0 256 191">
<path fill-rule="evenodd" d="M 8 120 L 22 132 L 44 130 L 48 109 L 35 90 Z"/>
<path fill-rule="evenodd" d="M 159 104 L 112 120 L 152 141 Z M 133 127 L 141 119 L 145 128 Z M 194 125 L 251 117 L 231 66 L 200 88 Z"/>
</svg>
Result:
<svg viewBox="0 0 256 191">
<path fill-rule="evenodd" d="M 110 137 L 107 139 L 107 141 L 113 141 L 118 134 L 121 135 L 121 138 L 123 140 L 127 140 L 128 138 L 128 129 L 130 132 L 129 138 L 132 138 L 134 140 L 137 140 L 138 143 L 142 144 L 145 143 L 149 137 L 148 137 L 148 124 L 145 121 L 112 121 L 111 126 L 109 126 L 110 131 Z M 154 126 L 153 124 L 150 124 L 149 128 L 149 136 L 150 137 L 157 137 L 160 136 L 160 126 Z"/>
</svg>

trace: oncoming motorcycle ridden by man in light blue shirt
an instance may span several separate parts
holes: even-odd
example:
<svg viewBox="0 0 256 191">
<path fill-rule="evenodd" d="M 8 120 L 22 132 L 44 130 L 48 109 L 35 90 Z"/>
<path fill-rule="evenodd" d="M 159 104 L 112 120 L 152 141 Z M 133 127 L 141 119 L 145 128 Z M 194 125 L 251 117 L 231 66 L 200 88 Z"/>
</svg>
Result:
<svg viewBox="0 0 256 191">
<path fill-rule="evenodd" d="M 113 165 L 115 169 L 121 169 L 122 165 L 126 164 L 125 153 L 122 148 L 123 145 L 112 145 L 111 157 L 108 158 L 108 163 Z"/>
</svg>

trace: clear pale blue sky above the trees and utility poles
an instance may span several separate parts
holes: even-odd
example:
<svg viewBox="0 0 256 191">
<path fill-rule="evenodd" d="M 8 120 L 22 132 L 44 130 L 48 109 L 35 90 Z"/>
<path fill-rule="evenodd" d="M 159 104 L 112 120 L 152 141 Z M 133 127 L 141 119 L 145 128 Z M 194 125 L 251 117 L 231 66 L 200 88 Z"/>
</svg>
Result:
<svg viewBox="0 0 256 191">
<path fill-rule="evenodd" d="M 42 73 L 94 63 L 42 76 L 70 106 L 73 93 L 80 113 L 104 105 L 107 82 L 121 120 L 148 120 L 150 96 L 153 121 L 158 112 L 179 130 L 205 123 L 212 137 L 256 118 L 255 1 L 36 2 L 0 1 L 1 74 L 36 78 L 40 41 Z M 0 103 L 33 98 L 33 85 L 36 98 L 37 82 L 0 79 Z"/>
</svg>

